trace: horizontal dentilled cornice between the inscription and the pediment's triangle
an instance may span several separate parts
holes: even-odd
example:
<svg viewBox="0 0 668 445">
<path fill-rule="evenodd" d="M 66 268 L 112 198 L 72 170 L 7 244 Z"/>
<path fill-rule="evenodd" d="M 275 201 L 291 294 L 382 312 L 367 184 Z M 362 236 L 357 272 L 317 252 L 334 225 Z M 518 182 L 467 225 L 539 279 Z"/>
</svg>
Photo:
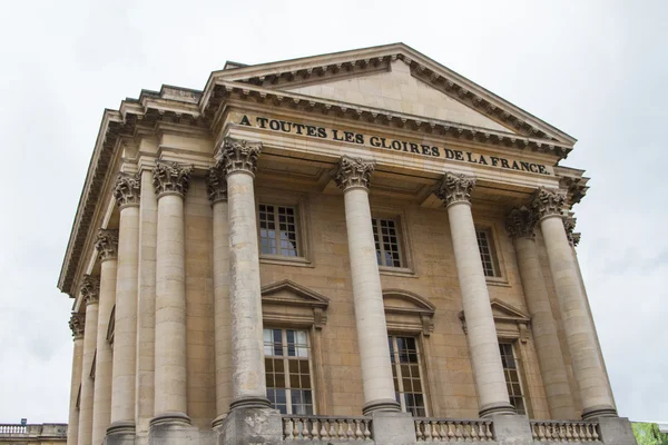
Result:
<svg viewBox="0 0 668 445">
<path fill-rule="evenodd" d="M 482 127 L 473 127 L 464 123 L 446 120 L 429 119 L 382 108 L 372 108 L 355 103 L 322 99 L 313 96 L 277 91 L 262 87 L 253 87 L 240 83 L 225 82 L 216 87 L 215 99 L 212 98 L 212 108 L 205 112 L 205 117 L 215 121 L 213 132 L 220 130 L 219 107 L 229 100 L 240 100 L 258 105 L 267 105 L 275 108 L 287 108 L 302 112 L 335 116 L 347 118 L 353 121 L 365 121 L 369 123 L 385 126 L 390 128 L 406 128 L 425 135 L 439 135 L 443 138 L 454 140 L 472 140 L 489 144 L 495 147 L 531 150 L 557 156 L 564 159 L 572 150 L 569 145 L 553 140 L 525 137 L 512 132 L 491 130 Z M 214 106 L 214 103 L 217 103 Z M 216 118 L 216 116 L 218 118 Z"/>
</svg>

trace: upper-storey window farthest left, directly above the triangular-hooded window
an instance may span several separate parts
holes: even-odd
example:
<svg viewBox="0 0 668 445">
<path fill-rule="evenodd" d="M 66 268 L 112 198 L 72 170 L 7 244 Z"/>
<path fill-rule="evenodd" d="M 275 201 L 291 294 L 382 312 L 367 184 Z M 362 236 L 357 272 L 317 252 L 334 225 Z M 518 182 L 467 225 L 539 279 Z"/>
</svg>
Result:
<svg viewBox="0 0 668 445">
<path fill-rule="evenodd" d="M 301 255 L 294 207 L 259 205 L 259 250 L 284 257 Z"/>
</svg>

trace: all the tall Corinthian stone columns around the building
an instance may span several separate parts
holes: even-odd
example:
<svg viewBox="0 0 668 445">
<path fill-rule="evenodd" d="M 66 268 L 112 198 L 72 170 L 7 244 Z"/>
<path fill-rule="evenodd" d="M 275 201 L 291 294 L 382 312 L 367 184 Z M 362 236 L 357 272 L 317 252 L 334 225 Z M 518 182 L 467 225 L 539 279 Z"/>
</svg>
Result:
<svg viewBox="0 0 668 445">
<path fill-rule="evenodd" d="M 214 426 L 224 421 L 229 409 L 269 406 L 265 385 L 254 190 L 254 174 L 261 151 L 258 142 L 225 138 L 216 150 L 216 164 L 209 169 L 207 178 L 214 221 Z M 369 186 L 374 167 L 371 161 L 344 156 L 332 171 L 344 194 L 365 415 L 400 411 L 394 398 L 387 328 L 371 226 Z M 146 323 L 144 318 L 137 318 L 138 286 L 144 279 L 138 271 L 141 255 L 139 246 L 145 244 L 140 240 L 139 205 L 144 202 L 141 184 L 147 186 L 149 179 L 157 200 L 155 240 L 149 240 L 156 246 L 155 305 L 147 306 L 155 306 L 155 336 L 150 338 L 155 343 L 155 397 L 150 425 L 190 424 L 187 414 L 184 214 L 190 175 L 190 166 L 157 161 L 151 175 L 121 174 L 117 179 L 115 198 L 120 210 L 118 235 L 115 238 L 116 235 L 109 230 L 100 233 L 98 251 L 101 284 L 97 284 L 94 277 L 85 278 L 81 287 L 87 303 L 85 328 L 81 329 L 79 315 L 72 316 L 71 320 L 75 332 L 72 388 L 78 386 L 80 379 L 81 395 L 78 414 L 73 406 L 75 396 L 70 396 L 70 425 L 78 423 L 78 427 L 77 434 L 68 438 L 68 444 L 97 445 L 105 434 L 135 433 L 136 411 L 139 409 L 139 397 L 135 392 L 138 382 L 144 378 L 137 374 L 137 368 L 143 367 L 137 359 L 137 338 L 138 335 L 145 336 L 144 327 L 138 330 L 137 326 Z M 471 191 L 474 186 L 475 179 L 472 177 L 446 172 L 434 192 L 444 202 L 452 235 L 480 415 L 513 414 L 471 212 Z M 616 415 L 578 269 L 563 228 L 562 207 L 563 195 L 559 190 L 541 188 L 531 207 L 513 210 L 507 222 L 518 253 L 548 403 L 553 416 L 574 416 L 557 325 L 533 240 L 537 221 L 540 221 L 561 304 L 573 372 L 584 406 L 583 416 Z M 116 326 L 111 354 L 106 340 L 114 304 Z M 140 300 L 139 305 L 143 304 Z M 96 347 L 98 356 L 94 385 L 87 377 Z M 232 357 L 232 368 L 226 357 Z M 232 403 L 227 406 L 226 400 L 229 399 Z"/>
</svg>

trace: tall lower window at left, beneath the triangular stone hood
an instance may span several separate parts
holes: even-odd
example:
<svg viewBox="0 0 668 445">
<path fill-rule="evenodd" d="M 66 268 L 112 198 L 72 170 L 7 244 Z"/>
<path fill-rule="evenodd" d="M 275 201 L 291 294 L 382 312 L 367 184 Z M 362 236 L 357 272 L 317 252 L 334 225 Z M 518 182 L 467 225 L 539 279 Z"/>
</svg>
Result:
<svg viewBox="0 0 668 445">
<path fill-rule="evenodd" d="M 305 330 L 264 329 L 267 398 L 282 414 L 313 414 L 311 349 Z"/>
</svg>

